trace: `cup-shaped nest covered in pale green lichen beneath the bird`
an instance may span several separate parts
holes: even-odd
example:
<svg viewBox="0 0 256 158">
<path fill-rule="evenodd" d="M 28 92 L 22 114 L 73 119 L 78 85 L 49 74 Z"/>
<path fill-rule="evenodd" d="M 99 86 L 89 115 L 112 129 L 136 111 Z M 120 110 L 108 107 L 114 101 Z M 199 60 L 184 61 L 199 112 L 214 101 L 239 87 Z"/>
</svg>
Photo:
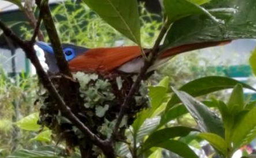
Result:
<svg viewBox="0 0 256 158">
<path fill-rule="evenodd" d="M 118 76 L 111 79 L 104 78 L 98 74 L 85 74 L 77 72 L 73 74 L 79 86 L 79 94 L 69 96 L 69 103 L 72 112 L 83 122 L 94 134 L 102 139 L 109 138 L 116 123 L 121 104 L 133 84 L 132 76 Z M 58 91 L 72 91 L 61 89 L 61 77 L 53 77 L 53 82 Z M 129 109 L 121 123 L 118 140 L 125 141 L 125 129 L 132 125 L 136 113 L 147 107 L 146 86 L 142 86 L 130 102 Z M 73 99 L 72 100 L 70 100 Z M 43 105 L 40 107 L 39 124 L 51 129 L 58 140 L 65 140 L 69 148 L 74 148 L 82 141 L 88 139 L 76 126 L 62 116 L 55 100 L 49 93 L 45 92 L 40 96 Z M 73 102 L 79 104 L 72 104 Z M 91 146 L 92 147 L 92 146 Z"/>
</svg>

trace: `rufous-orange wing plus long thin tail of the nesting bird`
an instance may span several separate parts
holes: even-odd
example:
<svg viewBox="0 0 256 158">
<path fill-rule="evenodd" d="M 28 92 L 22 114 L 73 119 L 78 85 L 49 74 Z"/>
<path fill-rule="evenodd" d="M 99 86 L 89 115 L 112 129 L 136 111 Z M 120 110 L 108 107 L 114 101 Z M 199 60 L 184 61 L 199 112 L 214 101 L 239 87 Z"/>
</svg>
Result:
<svg viewBox="0 0 256 158">
<path fill-rule="evenodd" d="M 166 50 L 160 55 L 160 59 L 177 55 L 181 52 L 206 47 L 221 46 L 230 42 L 230 40 L 226 40 L 218 42 L 185 44 L 183 46 L 177 46 Z M 120 67 L 124 63 L 140 57 L 140 55 L 141 50 L 138 46 L 93 48 L 86 51 L 83 55 L 77 56 L 75 59 L 69 62 L 69 68 L 72 72 L 81 71 L 91 73 L 110 73 L 112 70 Z"/>
</svg>

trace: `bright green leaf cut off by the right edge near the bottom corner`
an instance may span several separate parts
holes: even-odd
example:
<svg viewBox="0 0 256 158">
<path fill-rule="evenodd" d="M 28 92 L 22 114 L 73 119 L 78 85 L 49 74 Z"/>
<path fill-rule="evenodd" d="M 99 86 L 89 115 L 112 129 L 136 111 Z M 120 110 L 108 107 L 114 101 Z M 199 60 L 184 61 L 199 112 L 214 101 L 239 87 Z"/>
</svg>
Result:
<svg viewBox="0 0 256 158">
<path fill-rule="evenodd" d="M 232 134 L 233 148 L 238 149 L 256 137 L 256 107 L 252 108 L 235 125 Z"/>
</svg>

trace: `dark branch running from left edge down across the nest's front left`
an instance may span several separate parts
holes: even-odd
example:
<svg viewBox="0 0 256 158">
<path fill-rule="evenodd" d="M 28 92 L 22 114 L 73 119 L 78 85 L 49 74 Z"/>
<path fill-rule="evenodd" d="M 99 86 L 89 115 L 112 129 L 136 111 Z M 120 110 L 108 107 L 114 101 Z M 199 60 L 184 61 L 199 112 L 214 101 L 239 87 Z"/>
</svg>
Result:
<svg viewBox="0 0 256 158">
<path fill-rule="evenodd" d="M 38 74 L 39 80 L 42 82 L 44 88 L 47 89 L 47 91 L 50 93 L 51 96 L 54 97 L 55 101 L 58 104 L 58 108 L 60 108 L 60 111 L 62 114 L 69 119 L 75 125 L 78 129 L 80 129 L 83 133 L 85 133 L 88 138 L 99 148 L 102 149 L 103 153 L 105 153 L 106 157 L 114 157 L 114 153 L 109 153 L 109 144 L 106 143 L 106 141 L 101 140 L 98 136 L 96 136 L 88 127 L 86 127 L 76 116 L 73 114 L 71 109 L 66 106 L 64 100 L 58 93 L 57 89 L 53 85 L 53 82 L 51 82 L 49 76 L 44 72 L 42 65 L 40 65 L 39 59 L 36 56 L 36 51 L 34 49 L 34 45 L 31 44 L 30 41 L 25 42 L 21 40 L 19 37 L 14 35 L 14 33 L 6 27 L 5 24 L 0 20 L 0 28 L 3 30 L 3 33 L 7 37 L 9 37 L 13 42 L 15 42 L 18 46 L 20 46 L 27 57 L 30 59 L 32 64 L 35 66 L 36 73 Z"/>
</svg>

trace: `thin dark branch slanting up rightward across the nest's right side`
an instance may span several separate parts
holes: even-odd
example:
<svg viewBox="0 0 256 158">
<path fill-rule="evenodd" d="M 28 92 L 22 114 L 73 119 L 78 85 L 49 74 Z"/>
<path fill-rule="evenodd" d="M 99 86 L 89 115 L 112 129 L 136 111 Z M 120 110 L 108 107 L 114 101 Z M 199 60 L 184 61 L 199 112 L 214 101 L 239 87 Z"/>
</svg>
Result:
<svg viewBox="0 0 256 158">
<path fill-rule="evenodd" d="M 115 137 L 117 136 L 120 123 L 128 110 L 128 106 L 132 100 L 133 95 L 138 91 L 138 89 L 140 87 L 140 82 L 143 80 L 143 77 L 147 73 L 147 70 L 149 69 L 149 67 L 151 65 L 153 65 L 155 59 L 157 59 L 157 55 L 161 53 L 161 52 L 159 52 L 159 46 L 160 46 L 160 43 L 161 43 L 165 33 L 167 32 L 167 30 L 169 28 L 169 25 L 170 25 L 169 22 L 165 22 L 165 24 L 161 28 L 161 31 L 157 37 L 157 40 L 155 41 L 154 47 L 152 48 L 152 50 L 149 53 L 149 57 L 147 58 L 147 60 L 144 59 L 144 66 L 140 70 L 140 73 L 139 73 L 138 77 L 136 78 L 136 81 L 132 84 L 132 88 L 130 89 L 128 95 L 125 97 L 123 104 L 121 105 L 121 109 L 120 109 L 120 112 L 117 117 L 117 122 L 116 122 L 116 125 L 114 126 L 114 130 L 112 133 L 112 137 L 109 140 L 110 142 L 113 142 Z"/>
</svg>

